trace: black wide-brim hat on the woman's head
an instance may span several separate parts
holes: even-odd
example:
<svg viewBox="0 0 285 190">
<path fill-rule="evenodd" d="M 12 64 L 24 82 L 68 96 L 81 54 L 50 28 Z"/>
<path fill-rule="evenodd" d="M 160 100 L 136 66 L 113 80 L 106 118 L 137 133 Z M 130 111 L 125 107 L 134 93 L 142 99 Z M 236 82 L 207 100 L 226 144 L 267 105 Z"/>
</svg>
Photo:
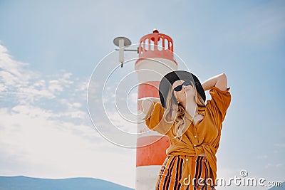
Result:
<svg viewBox="0 0 285 190">
<path fill-rule="evenodd" d="M 201 95 L 202 99 L 206 101 L 206 95 L 199 79 L 186 70 L 175 70 L 170 73 L 167 73 L 162 78 L 162 80 L 160 80 L 159 93 L 162 107 L 165 107 L 169 88 L 172 88 L 172 85 L 176 80 L 192 80 L 192 82 L 195 84 L 197 92 L 199 93 L 199 95 Z"/>
</svg>

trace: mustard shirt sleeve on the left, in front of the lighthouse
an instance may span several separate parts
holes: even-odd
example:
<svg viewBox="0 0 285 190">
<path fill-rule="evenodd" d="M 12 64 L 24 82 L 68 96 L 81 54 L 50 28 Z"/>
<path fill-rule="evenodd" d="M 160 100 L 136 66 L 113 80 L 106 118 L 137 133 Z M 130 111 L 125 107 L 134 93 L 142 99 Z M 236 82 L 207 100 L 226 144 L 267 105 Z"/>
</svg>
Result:
<svg viewBox="0 0 285 190">
<path fill-rule="evenodd" d="M 160 102 L 152 102 L 152 105 L 150 105 L 150 110 L 148 110 L 144 120 L 145 125 L 147 125 L 150 130 L 167 135 L 173 123 L 165 122 L 163 119 L 164 112 L 165 108 L 162 107 Z"/>
</svg>

